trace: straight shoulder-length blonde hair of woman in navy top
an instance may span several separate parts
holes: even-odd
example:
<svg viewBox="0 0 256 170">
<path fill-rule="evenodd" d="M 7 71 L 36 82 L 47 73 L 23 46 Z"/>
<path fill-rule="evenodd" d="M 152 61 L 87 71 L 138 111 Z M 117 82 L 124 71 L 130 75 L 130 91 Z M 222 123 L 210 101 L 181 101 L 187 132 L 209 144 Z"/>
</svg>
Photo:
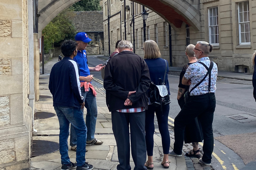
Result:
<svg viewBox="0 0 256 170">
<path fill-rule="evenodd" d="M 153 40 L 148 40 L 143 43 L 144 58 L 155 59 L 161 57 L 161 53 L 157 43 Z"/>
</svg>

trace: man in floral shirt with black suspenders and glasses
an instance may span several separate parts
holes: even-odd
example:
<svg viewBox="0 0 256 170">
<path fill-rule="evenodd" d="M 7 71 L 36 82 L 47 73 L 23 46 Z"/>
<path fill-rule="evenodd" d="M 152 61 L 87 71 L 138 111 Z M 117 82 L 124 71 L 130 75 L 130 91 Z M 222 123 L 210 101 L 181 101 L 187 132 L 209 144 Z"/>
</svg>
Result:
<svg viewBox="0 0 256 170">
<path fill-rule="evenodd" d="M 215 91 L 218 74 L 217 64 L 211 62 L 208 57 L 212 48 L 213 46 L 208 42 L 199 41 L 193 50 L 198 60 L 187 68 L 182 79 L 182 84 L 190 85 L 188 100 L 174 120 L 174 149 L 169 153 L 171 156 L 182 156 L 185 127 L 192 119 L 198 117 L 204 137 L 204 155 L 199 159 L 199 163 L 206 166 L 211 166 L 213 152 L 212 122 L 216 107 Z M 211 71 L 208 73 L 208 70 Z"/>
</svg>

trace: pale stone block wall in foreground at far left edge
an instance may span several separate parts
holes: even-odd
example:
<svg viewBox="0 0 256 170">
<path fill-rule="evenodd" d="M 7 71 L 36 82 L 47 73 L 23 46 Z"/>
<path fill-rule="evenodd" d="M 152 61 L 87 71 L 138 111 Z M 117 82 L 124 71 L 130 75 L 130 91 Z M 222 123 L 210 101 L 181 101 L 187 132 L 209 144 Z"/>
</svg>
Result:
<svg viewBox="0 0 256 170">
<path fill-rule="evenodd" d="M 15 5 L 14 5 L 15 4 Z M 29 169 L 28 2 L 1 1 L 0 169 Z"/>
</svg>

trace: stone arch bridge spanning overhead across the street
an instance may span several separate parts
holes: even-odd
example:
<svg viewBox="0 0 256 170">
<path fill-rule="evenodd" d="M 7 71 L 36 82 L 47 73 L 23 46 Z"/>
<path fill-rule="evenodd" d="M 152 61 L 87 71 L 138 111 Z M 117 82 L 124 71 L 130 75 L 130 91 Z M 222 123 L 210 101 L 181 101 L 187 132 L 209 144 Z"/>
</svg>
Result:
<svg viewBox="0 0 256 170">
<path fill-rule="evenodd" d="M 43 28 L 61 11 L 68 8 L 79 0 L 39 0 L 38 19 L 39 33 Z M 200 13 L 199 13 L 199 0 L 132 0 L 142 4 L 172 25 L 175 28 L 181 28 L 183 22 L 192 26 L 194 30 L 200 29 Z M 191 2 L 193 4 L 191 4 Z M 195 6 L 198 8 L 196 9 Z"/>
</svg>

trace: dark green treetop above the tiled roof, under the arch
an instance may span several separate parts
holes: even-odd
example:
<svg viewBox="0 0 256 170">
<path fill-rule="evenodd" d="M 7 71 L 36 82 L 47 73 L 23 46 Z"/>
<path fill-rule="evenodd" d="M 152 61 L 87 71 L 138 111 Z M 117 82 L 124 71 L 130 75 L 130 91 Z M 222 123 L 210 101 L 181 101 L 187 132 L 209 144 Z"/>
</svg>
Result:
<svg viewBox="0 0 256 170">
<path fill-rule="evenodd" d="M 100 0 L 81 0 L 73 4 L 71 11 L 100 11 Z"/>
</svg>

